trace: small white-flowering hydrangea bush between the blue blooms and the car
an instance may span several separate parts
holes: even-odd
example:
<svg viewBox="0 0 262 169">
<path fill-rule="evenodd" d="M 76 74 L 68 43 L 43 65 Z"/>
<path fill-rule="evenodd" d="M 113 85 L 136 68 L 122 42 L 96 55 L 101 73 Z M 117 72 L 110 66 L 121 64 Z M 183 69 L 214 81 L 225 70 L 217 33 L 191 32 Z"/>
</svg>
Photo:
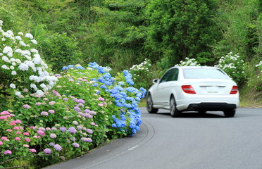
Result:
<svg viewBox="0 0 262 169">
<path fill-rule="evenodd" d="M 151 84 L 151 80 L 154 76 L 151 61 L 149 59 L 145 59 L 144 62 L 139 65 L 132 65 L 130 73 L 135 81 L 135 87 L 149 89 L 149 84 Z"/>
</svg>

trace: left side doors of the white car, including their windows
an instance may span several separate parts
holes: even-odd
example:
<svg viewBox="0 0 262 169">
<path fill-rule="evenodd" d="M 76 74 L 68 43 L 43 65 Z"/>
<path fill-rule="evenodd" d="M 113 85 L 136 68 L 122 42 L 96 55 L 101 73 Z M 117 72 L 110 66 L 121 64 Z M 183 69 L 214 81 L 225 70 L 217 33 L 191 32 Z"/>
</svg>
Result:
<svg viewBox="0 0 262 169">
<path fill-rule="evenodd" d="M 163 75 L 163 77 L 157 84 L 155 90 L 155 94 L 154 94 L 155 104 L 161 106 L 169 106 L 170 94 L 172 92 L 174 81 L 177 80 L 177 75 L 178 75 L 177 68 L 171 68 Z"/>
</svg>

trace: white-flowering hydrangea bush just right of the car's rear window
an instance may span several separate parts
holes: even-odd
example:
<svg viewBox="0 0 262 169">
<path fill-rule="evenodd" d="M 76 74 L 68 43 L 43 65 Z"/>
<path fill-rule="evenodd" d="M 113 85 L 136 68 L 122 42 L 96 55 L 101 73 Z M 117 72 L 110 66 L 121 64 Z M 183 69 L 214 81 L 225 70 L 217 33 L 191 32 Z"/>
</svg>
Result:
<svg viewBox="0 0 262 169">
<path fill-rule="evenodd" d="M 244 71 L 244 61 L 239 54 L 230 52 L 222 56 L 218 61 L 218 65 L 215 66 L 224 70 L 239 85 L 247 80 L 247 75 Z"/>
</svg>

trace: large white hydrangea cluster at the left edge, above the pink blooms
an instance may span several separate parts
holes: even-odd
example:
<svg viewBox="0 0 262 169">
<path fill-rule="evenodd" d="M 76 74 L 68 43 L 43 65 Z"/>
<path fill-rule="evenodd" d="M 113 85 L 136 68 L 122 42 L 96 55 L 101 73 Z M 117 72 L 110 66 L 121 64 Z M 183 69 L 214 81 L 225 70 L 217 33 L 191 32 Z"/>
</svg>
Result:
<svg viewBox="0 0 262 169">
<path fill-rule="evenodd" d="M 48 66 L 37 49 L 31 47 L 37 44 L 34 37 L 23 32 L 18 32 L 15 36 L 11 30 L 2 30 L 1 25 L 0 68 L 1 72 L 5 73 L 4 77 L 8 78 L 5 81 L 11 82 L 7 85 L 20 97 L 23 97 L 23 91 L 20 90 L 24 87 L 39 95 L 50 90 L 56 84 L 57 78 L 50 75 Z"/>
</svg>

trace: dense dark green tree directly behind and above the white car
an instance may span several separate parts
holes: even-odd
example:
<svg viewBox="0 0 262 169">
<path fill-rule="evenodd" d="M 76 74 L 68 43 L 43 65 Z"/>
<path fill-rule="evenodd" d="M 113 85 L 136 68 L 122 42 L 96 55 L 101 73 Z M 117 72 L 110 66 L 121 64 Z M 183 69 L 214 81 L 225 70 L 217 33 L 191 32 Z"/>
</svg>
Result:
<svg viewBox="0 0 262 169">
<path fill-rule="evenodd" d="M 162 59 L 162 67 L 197 58 L 199 63 L 212 61 L 215 42 L 216 0 L 154 0 L 146 8 L 148 37 L 146 46 L 152 61 Z M 154 51 L 154 52 L 152 52 Z"/>
</svg>

